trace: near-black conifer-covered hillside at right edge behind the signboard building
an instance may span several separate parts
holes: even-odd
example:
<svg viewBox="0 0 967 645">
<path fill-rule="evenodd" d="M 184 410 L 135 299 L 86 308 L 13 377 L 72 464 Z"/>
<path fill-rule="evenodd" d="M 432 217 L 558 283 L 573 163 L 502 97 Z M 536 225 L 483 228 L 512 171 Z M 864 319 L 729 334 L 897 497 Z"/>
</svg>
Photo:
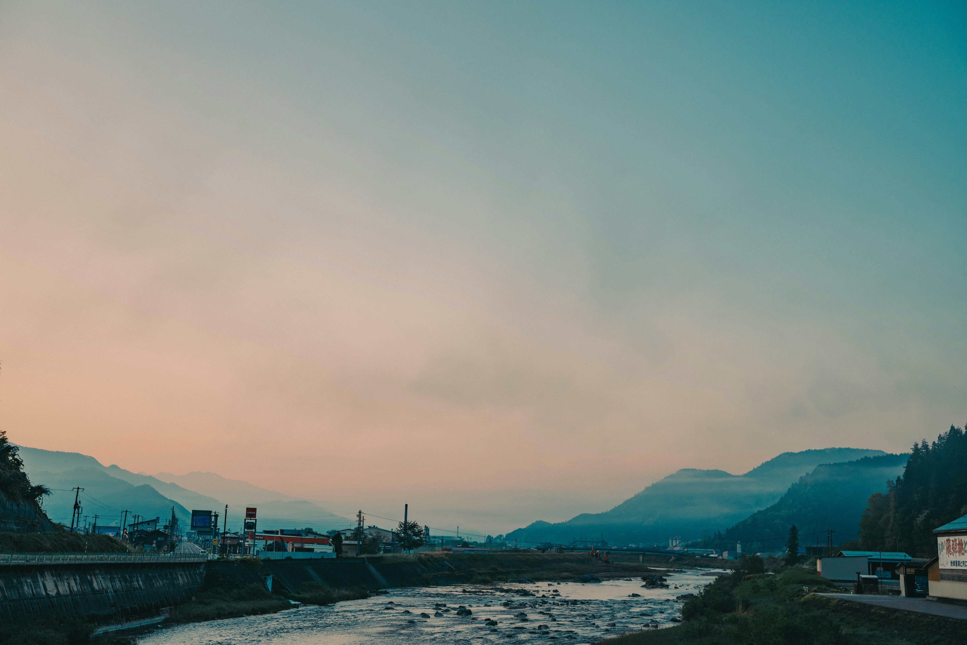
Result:
<svg viewBox="0 0 967 645">
<path fill-rule="evenodd" d="M 903 475 L 870 496 L 860 523 L 860 547 L 937 554 L 933 529 L 967 514 L 967 436 L 959 427 L 914 443 Z"/>
</svg>

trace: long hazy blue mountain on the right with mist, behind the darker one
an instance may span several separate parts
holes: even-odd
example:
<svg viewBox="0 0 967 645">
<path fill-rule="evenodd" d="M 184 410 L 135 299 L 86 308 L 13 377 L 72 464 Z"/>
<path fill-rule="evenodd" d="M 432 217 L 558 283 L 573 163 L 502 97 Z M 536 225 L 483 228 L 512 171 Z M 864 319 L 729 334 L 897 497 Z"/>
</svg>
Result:
<svg viewBox="0 0 967 645">
<path fill-rule="evenodd" d="M 582 513 L 566 522 L 538 521 L 508 535 L 519 542 L 601 540 L 614 544 L 667 543 L 701 538 L 772 504 L 791 484 L 822 463 L 852 461 L 883 451 L 827 448 L 783 453 L 745 475 L 683 468 L 604 513 Z"/>
</svg>

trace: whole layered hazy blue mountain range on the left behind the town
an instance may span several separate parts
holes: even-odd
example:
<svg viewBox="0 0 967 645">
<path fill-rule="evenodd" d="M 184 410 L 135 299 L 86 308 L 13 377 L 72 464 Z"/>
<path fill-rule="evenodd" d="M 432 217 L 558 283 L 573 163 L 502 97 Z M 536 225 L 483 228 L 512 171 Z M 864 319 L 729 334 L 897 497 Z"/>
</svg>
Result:
<svg viewBox="0 0 967 645">
<path fill-rule="evenodd" d="M 156 477 L 116 465 L 104 466 L 87 454 L 24 446 L 19 447 L 19 454 L 31 481 L 51 488 L 44 510 L 56 522 L 70 523 L 72 488 L 80 486 L 84 489 L 78 497 L 83 514 L 93 519 L 97 513 L 99 523 L 104 525 L 120 525 L 125 510 L 129 511 L 129 522 L 134 513 L 165 520 L 172 510 L 179 520 L 188 522 L 191 510 L 224 513 L 226 504 L 229 529 L 240 528 L 246 507 L 258 509 L 259 530 L 311 526 L 328 531 L 353 523 L 314 502 L 215 473 L 160 473 Z"/>
</svg>

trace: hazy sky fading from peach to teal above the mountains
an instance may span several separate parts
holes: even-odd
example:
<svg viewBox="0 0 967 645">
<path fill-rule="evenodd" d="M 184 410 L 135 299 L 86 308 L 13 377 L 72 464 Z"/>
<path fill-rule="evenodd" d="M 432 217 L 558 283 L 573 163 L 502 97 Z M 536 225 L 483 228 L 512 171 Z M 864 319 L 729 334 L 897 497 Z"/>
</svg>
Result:
<svg viewBox="0 0 967 645">
<path fill-rule="evenodd" d="M 961 3 L 5 1 L 0 94 L 21 445 L 496 535 L 967 421 Z"/>
</svg>

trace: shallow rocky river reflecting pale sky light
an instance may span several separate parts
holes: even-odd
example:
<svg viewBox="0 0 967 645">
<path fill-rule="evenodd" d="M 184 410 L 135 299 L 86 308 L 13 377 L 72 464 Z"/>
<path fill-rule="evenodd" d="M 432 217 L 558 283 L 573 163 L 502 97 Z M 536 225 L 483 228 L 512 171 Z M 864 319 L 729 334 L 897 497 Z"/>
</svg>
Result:
<svg viewBox="0 0 967 645">
<path fill-rule="evenodd" d="M 393 589 L 363 601 L 304 605 L 278 614 L 160 628 L 142 634 L 137 642 L 138 645 L 402 642 L 481 645 L 508 642 L 513 638 L 513 642 L 592 643 L 629 631 L 674 625 L 672 619 L 680 616 L 683 603 L 677 597 L 697 592 L 712 581 L 709 572 L 702 573 L 664 573 L 670 585 L 668 589 L 645 589 L 640 578 L 600 583 L 506 584 L 501 588 Z M 472 613 L 457 615 L 461 605 Z"/>
</svg>

